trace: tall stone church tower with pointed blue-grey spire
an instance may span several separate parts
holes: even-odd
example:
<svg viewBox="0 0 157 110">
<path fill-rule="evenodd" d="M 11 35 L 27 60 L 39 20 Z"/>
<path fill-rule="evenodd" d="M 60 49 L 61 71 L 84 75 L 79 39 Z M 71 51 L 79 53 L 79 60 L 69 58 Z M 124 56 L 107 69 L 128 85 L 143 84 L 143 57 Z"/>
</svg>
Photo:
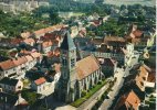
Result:
<svg viewBox="0 0 157 110">
<path fill-rule="evenodd" d="M 61 78 L 59 80 L 59 100 L 72 102 L 76 98 L 76 47 L 69 32 L 61 44 Z"/>
</svg>

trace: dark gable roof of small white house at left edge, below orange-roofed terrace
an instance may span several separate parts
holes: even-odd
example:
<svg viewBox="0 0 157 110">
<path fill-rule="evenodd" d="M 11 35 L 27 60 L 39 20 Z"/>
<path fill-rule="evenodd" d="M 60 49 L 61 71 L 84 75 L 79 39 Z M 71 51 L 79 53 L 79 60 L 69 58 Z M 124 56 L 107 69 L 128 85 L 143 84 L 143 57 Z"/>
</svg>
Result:
<svg viewBox="0 0 157 110">
<path fill-rule="evenodd" d="M 19 81 L 18 79 L 4 77 L 3 79 L 0 80 L 0 84 L 15 86 L 18 84 L 18 81 Z"/>
</svg>

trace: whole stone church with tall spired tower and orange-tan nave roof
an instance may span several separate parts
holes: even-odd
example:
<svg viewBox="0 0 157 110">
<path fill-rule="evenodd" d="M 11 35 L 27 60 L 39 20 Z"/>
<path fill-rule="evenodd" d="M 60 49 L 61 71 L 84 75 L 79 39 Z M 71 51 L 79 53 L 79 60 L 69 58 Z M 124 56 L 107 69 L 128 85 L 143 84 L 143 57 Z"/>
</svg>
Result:
<svg viewBox="0 0 157 110">
<path fill-rule="evenodd" d="M 76 47 L 69 32 L 61 44 L 61 77 L 57 85 L 57 99 L 73 102 L 81 98 L 82 91 L 91 89 L 103 74 L 101 65 L 94 56 L 77 61 Z"/>
</svg>

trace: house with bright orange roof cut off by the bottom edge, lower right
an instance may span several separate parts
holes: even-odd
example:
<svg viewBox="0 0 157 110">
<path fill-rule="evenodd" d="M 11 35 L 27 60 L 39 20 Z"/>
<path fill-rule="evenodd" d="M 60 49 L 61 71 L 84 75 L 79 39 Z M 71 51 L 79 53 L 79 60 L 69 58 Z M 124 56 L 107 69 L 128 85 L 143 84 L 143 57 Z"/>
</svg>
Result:
<svg viewBox="0 0 157 110">
<path fill-rule="evenodd" d="M 140 106 L 140 99 L 130 90 L 129 92 L 119 97 L 114 110 L 138 110 Z"/>
</svg>

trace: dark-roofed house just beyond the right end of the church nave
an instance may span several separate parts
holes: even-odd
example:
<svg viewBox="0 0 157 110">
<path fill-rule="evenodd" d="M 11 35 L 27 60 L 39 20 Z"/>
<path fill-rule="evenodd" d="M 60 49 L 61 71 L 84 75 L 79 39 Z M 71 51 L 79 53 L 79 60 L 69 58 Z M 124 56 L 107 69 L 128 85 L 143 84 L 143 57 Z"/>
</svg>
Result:
<svg viewBox="0 0 157 110">
<path fill-rule="evenodd" d="M 117 62 L 112 58 L 97 58 L 101 66 L 102 72 L 105 75 L 105 77 L 114 76 L 116 68 L 117 68 Z"/>
</svg>

